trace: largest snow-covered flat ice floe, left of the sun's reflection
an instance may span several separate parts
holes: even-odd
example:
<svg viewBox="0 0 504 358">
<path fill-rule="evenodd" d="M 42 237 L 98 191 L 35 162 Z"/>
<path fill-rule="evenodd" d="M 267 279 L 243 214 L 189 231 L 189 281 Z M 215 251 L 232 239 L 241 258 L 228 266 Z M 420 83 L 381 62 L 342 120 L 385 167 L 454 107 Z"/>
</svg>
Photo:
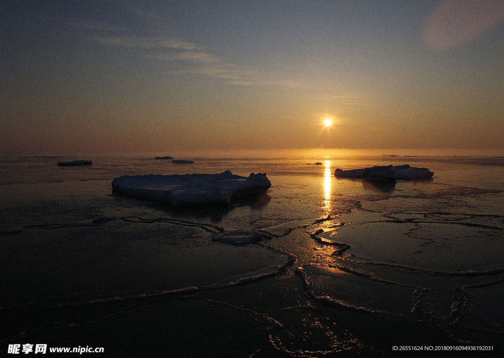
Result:
<svg viewBox="0 0 504 358">
<path fill-rule="evenodd" d="M 149 174 L 114 178 L 112 189 L 173 206 L 229 205 L 231 200 L 264 193 L 271 187 L 266 173 L 248 177 L 226 170 L 220 174 Z"/>
</svg>

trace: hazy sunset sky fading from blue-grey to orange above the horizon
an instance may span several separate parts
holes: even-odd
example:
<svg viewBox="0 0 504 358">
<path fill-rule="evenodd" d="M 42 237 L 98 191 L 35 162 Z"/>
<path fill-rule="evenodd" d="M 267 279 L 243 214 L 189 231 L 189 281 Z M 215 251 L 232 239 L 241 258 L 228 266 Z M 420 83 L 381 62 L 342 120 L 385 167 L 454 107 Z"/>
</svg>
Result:
<svg viewBox="0 0 504 358">
<path fill-rule="evenodd" d="M 504 155 L 503 21 L 500 0 L 0 0 L 0 155 Z"/>
</svg>

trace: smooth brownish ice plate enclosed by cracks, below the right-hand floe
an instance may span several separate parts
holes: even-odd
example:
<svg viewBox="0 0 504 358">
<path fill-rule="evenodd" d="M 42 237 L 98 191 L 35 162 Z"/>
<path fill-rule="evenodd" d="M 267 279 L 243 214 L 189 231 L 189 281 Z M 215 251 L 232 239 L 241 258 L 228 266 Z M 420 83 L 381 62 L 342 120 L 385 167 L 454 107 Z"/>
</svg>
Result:
<svg viewBox="0 0 504 358">
<path fill-rule="evenodd" d="M 427 269 L 487 270 L 502 266 L 501 232 L 455 223 L 352 223 L 336 241 L 355 256 Z"/>
</svg>

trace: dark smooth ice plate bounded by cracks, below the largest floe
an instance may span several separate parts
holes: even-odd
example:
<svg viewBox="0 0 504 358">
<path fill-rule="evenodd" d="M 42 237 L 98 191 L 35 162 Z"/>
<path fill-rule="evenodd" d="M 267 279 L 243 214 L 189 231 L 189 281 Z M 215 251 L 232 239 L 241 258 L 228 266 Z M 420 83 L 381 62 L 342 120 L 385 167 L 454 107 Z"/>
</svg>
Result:
<svg viewBox="0 0 504 358">
<path fill-rule="evenodd" d="M 4 306 L 29 301 L 55 306 L 216 282 L 226 285 L 273 274 L 288 260 L 257 245 L 213 243 L 211 233 L 199 227 L 162 222 L 114 220 L 94 226 L 25 229 L 6 237 L 0 261 Z"/>
</svg>

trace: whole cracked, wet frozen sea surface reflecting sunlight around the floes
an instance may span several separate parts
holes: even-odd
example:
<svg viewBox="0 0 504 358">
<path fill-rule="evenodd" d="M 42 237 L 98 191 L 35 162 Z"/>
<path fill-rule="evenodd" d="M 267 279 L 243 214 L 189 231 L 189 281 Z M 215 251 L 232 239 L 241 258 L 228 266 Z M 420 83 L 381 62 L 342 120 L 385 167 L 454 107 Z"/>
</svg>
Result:
<svg viewBox="0 0 504 358">
<path fill-rule="evenodd" d="M 487 177 L 501 168 L 476 182 L 441 168 L 430 182 L 380 187 L 305 162 L 268 173 L 260 198 L 211 211 L 114 195 L 105 180 L 1 186 L 0 350 L 319 357 L 491 345 L 478 355 L 502 355 L 504 198 Z"/>
</svg>

